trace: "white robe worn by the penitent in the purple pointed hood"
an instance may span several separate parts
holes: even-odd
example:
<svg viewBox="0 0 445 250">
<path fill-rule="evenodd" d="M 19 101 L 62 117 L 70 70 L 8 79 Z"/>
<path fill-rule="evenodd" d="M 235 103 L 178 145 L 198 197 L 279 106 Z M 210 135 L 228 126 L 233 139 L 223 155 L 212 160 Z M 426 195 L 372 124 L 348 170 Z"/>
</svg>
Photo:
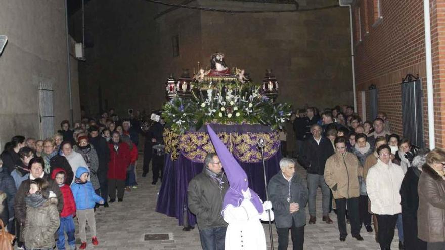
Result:
<svg viewBox="0 0 445 250">
<path fill-rule="evenodd" d="M 268 221 L 268 212 L 259 214 L 250 199 L 244 199 L 239 207 L 229 204 L 223 212 L 224 220 L 229 224 L 226 231 L 226 250 L 267 249 L 264 228 L 259 220 Z M 274 212 L 271 211 L 271 221 Z"/>
</svg>

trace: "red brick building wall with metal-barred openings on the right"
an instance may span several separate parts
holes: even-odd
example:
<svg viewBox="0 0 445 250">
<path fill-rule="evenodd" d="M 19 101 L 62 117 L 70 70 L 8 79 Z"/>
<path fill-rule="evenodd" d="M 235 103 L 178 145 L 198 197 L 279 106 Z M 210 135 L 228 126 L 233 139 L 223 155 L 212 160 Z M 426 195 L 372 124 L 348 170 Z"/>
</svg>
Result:
<svg viewBox="0 0 445 250">
<path fill-rule="evenodd" d="M 419 74 L 424 97 L 424 139 L 428 143 L 425 36 L 422 0 L 380 0 L 376 19 L 377 0 L 354 1 L 360 8 L 362 40 L 355 41 L 355 74 L 357 95 L 375 84 L 379 91 L 379 110 L 386 112 L 391 129 L 402 134 L 402 102 L 400 82 L 407 74 Z M 433 83 L 436 146 L 443 147 L 442 130 L 445 115 L 445 0 L 431 0 L 431 34 L 433 51 Z M 366 20 L 364 20 L 366 17 Z M 357 22 L 357 19 L 354 19 Z M 358 24 L 354 23 L 354 27 Z M 364 32 L 368 30 L 369 33 Z M 357 31 L 357 28 L 354 28 Z M 356 34 L 357 35 L 357 34 Z M 357 37 L 357 36 L 356 36 Z M 367 102 L 367 105 L 369 102 Z M 358 98 L 361 111 L 361 98 Z M 445 128 L 445 127 L 444 127 Z"/>
</svg>

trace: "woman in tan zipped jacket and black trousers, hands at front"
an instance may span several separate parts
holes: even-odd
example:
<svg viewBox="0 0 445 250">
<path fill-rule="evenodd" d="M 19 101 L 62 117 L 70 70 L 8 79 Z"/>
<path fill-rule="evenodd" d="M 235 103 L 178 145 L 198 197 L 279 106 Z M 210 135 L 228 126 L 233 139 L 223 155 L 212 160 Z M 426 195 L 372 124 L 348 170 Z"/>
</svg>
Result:
<svg viewBox="0 0 445 250">
<path fill-rule="evenodd" d="M 346 204 L 351 221 L 351 234 L 357 240 L 360 236 L 359 222 L 359 176 L 362 176 L 362 167 L 357 157 L 346 151 L 346 138 L 337 137 L 334 141 L 336 152 L 326 160 L 324 177 L 326 184 L 331 188 L 337 206 L 338 230 L 340 241 L 345 241 L 346 231 Z"/>
</svg>

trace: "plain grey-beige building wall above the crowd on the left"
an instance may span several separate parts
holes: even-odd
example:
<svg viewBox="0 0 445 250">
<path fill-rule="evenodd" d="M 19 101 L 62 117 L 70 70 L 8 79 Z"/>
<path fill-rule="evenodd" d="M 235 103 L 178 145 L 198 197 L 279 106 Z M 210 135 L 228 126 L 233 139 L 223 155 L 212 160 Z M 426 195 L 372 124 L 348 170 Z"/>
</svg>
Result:
<svg viewBox="0 0 445 250">
<path fill-rule="evenodd" d="M 38 86 L 53 85 L 54 129 L 69 119 L 65 1 L 0 0 L 0 146 L 14 135 L 40 138 Z M 72 60 L 74 117 L 79 118 L 78 73 Z"/>
</svg>

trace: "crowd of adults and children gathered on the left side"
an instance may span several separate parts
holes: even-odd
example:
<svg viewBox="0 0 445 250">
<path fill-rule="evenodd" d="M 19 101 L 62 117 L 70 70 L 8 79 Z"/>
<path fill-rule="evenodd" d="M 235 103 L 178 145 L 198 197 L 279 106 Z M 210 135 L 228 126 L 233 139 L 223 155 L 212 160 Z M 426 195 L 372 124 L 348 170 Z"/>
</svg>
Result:
<svg viewBox="0 0 445 250">
<path fill-rule="evenodd" d="M 95 211 L 123 202 L 125 191 L 137 189 L 139 136 L 145 136 L 144 173 L 153 144 L 162 143 L 162 120 L 142 130 L 135 117 L 120 120 L 111 109 L 99 119 L 83 118 L 51 138 L 14 136 L 0 155 L 0 219 L 16 236 L 18 249 L 77 249 L 77 218 L 86 249 L 86 225 L 91 243 L 98 245 Z M 153 182 L 162 180 L 162 157 L 153 157 Z M 66 235 L 66 236 L 65 236 Z M 66 239 L 65 239 L 66 238 Z"/>
</svg>

